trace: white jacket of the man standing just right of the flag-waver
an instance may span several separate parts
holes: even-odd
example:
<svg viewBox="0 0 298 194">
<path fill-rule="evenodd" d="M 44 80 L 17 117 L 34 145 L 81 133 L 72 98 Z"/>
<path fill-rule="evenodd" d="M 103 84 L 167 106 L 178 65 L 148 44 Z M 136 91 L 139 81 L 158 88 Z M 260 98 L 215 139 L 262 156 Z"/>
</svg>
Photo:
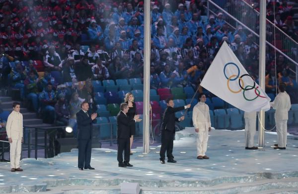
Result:
<svg viewBox="0 0 298 194">
<path fill-rule="evenodd" d="M 208 130 L 211 127 L 209 106 L 203 102 L 196 104 L 193 109 L 192 120 L 195 129 Z"/>
</svg>

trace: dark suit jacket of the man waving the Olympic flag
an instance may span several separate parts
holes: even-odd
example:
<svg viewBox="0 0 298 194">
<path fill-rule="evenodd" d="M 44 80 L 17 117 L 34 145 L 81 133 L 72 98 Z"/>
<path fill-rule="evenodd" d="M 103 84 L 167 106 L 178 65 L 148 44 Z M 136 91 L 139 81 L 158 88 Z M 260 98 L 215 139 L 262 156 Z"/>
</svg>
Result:
<svg viewBox="0 0 298 194">
<path fill-rule="evenodd" d="M 165 130 L 175 132 L 175 121 L 179 122 L 179 118 L 175 117 L 175 112 L 184 110 L 184 106 L 172 108 L 167 107 L 165 109 L 164 117 L 163 117 L 163 128 Z"/>
</svg>

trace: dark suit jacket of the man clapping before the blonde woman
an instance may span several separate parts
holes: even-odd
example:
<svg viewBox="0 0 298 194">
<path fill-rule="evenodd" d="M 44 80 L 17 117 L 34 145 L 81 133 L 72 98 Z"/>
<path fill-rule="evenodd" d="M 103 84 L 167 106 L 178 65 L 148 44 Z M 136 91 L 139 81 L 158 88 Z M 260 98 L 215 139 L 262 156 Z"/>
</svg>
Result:
<svg viewBox="0 0 298 194">
<path fill-rule="evenodd" d="M 117 138 L 129 138 L 132 125 L 135 121 L 120 111 L 117 115 Z"/>
</svg>

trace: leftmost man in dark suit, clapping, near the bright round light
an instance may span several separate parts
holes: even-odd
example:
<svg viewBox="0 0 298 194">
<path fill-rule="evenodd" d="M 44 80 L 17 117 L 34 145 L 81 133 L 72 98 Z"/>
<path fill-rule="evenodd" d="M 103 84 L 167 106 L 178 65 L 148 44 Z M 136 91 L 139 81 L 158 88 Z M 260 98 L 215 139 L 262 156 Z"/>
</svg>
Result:
<svg viewBox="0 0 298 194">
<path fill-rule="evenodd" d="M 77 143 L 78 143 L 78 161 L 77 167 L 79 170 L 90 169 L 91 160 L 91 139 L 92 139 L 92 124 L 96 123 L 97 113 L 88 115 L 88 102 L 81 104 L 81 110 L 76 113 L 77 122 Z"/>
</svg>

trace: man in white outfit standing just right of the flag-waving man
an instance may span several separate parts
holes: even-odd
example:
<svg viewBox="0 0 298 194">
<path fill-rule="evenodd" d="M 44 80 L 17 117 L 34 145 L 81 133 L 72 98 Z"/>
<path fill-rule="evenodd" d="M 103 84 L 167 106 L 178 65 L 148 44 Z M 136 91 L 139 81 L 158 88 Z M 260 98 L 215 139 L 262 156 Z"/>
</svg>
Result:
<svg viewBox="0 0 298 194">
<path fill-rule="evenodd" d="M 199 95 L 200 102 L 193 109 L 192 120 L 197 132 L 197 159 L 209 159 L 206 156 L 208 133 L 211 130 L 209 106 L 205 104 L 206 95 Z"/>
</svg>

